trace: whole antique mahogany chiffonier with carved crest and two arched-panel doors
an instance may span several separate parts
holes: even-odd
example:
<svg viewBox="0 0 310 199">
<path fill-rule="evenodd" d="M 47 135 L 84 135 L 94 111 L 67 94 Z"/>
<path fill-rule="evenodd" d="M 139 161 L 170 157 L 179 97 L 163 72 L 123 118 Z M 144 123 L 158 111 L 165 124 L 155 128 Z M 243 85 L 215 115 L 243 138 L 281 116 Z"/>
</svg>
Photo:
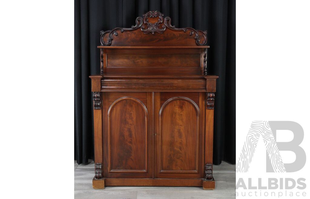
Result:
<svg viewBox="0 0 310 199">
<path fill-rule="evenodd" d="M 214 93 L 206 31 L 149 11 L 101 31 L 94 100 L 94 189 L 201 186 L 212 176 Z"/>
</svg>

